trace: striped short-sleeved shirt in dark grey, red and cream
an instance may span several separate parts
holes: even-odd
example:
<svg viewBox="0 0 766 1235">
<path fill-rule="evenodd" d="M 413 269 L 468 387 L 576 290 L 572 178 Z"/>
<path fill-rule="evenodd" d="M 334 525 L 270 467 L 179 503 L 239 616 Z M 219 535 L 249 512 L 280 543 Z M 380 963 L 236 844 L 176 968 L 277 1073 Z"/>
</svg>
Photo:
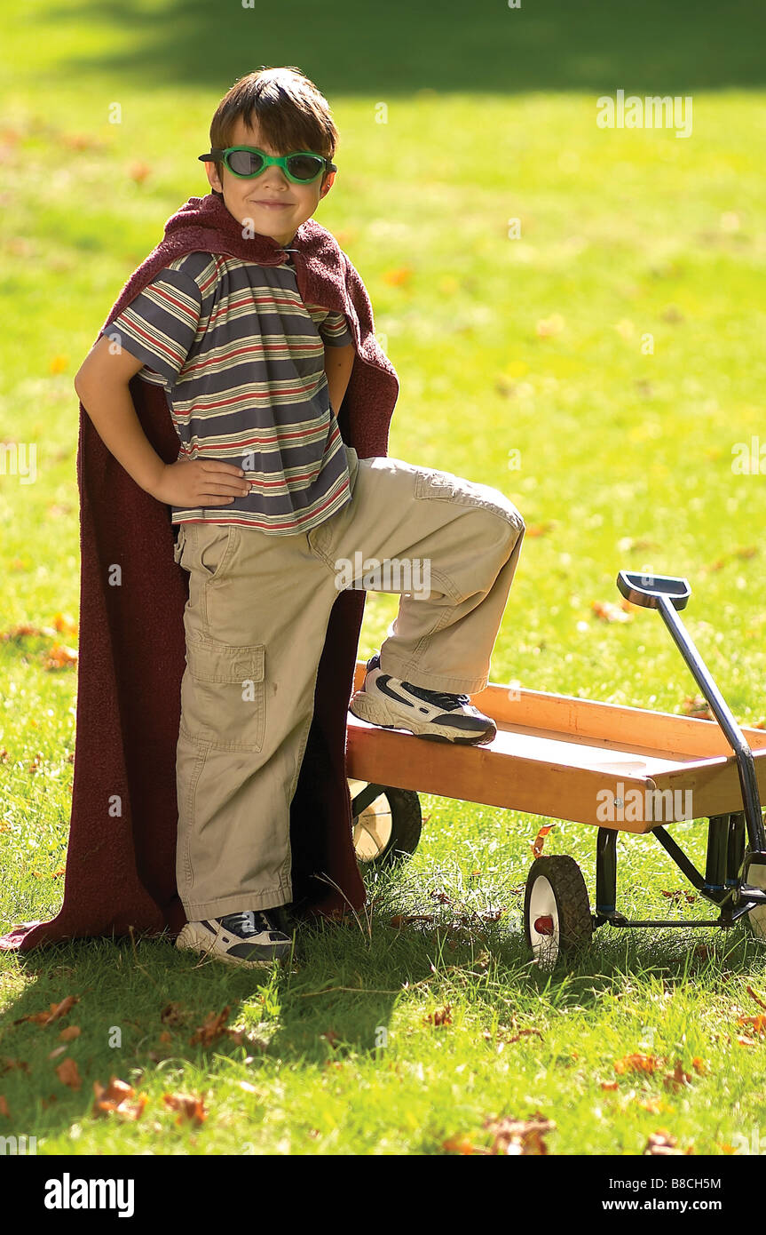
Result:
<svg viewBox="0 0 766 1235">
<path fill-rule="evenodd" d="M 171 506 L 171 521 L 307 532 L 350 500 L 324 345 L 353 343 L 345 316 L 301 300 L 295 267 L 222 253 L 167 266 L 101 333 L 165 390 L 179 458 L 242 467 L 253 488 L 224 506 Z"/>
</svg>

